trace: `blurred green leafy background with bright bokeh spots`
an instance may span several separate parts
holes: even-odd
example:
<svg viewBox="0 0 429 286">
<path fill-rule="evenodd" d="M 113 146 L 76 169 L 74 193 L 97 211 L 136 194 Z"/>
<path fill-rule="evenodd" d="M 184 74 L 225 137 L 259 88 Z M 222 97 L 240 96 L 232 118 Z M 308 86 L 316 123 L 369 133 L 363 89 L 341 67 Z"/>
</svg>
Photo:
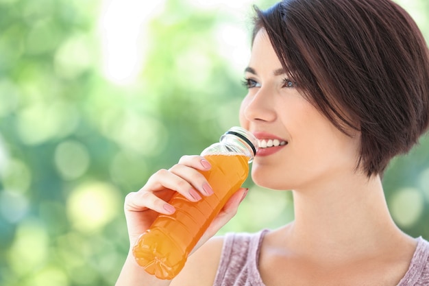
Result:
<svg viewBox="0 0 429 286">
<path fill-rule="evenodd" d="M 429 39 L 429 3 L 400 2 Z M 123 199 L 238 124 L 251 0 L 0 0 L 0 285 L 113 285 Z M 429 239 L 429 139 L 393 161 L 389 208 Z M 251 188 L 220 233 L 293 219 Z"/>
</svg>

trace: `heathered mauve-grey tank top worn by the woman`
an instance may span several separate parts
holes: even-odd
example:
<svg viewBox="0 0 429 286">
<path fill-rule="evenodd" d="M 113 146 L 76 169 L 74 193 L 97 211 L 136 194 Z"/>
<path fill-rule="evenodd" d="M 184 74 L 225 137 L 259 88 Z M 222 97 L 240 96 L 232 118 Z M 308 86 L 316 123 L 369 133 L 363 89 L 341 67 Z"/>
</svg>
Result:
<svg viewBox="0 0 429 286">
<path fill-rule="evenodd" d="M 258 270 L 260 245 L 268 230 L 225 235 L 214 286 L 265 286 Z M 408 271 L 397 286 L 429 285 L 429 242 L 419 237 Z"/>
</svg>

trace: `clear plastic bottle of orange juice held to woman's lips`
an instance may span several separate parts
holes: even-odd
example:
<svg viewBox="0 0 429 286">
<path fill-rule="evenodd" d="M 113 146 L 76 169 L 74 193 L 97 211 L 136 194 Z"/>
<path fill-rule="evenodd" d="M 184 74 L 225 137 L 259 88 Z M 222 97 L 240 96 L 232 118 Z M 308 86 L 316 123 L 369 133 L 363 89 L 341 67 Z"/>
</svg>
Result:
<svg viewBox="0 0 429 286">
<path fill-rule="evenodd" d="M 138 265 L 160 279 L 172 279 L 182 270 L 188 254 L 212 220 L 246 180 L 257 145 L 252 133 L 233 127 L 221 136 L 219 143 L 201 152 L 212 165 L 201 174 L 214 194 L 201 196 L 198 202 L 191 202 L 180 193 L 173 195 L 169 204 L 176 208 L 175 213 L 159 215 L 134 245 L 132 251 Z"/>
</svg>

